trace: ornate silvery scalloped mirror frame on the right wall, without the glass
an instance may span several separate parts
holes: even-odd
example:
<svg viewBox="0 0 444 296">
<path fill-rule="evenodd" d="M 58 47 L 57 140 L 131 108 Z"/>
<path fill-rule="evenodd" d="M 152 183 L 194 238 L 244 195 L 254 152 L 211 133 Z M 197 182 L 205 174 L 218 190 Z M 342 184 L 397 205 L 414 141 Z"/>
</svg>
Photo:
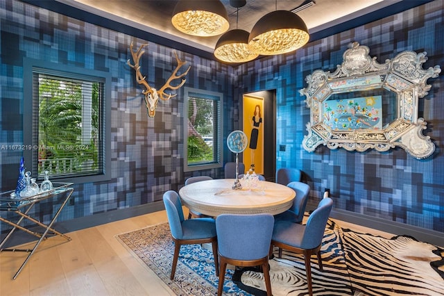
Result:
<svg viewBox="0 0 444 296">
<path fill-rule="evenodd" d="M 343 147 L 359 152 L 401 147 L 418 159 L 432 155 L 435 145 L 429 136 L 422 135 L 427 122 L 418 117 L 418 98 L 428 94 L 432 86 L 426 81 L 438 77 L 440 67 L 422 69 L 427 60 L 426 52 L 403 51 L 392 60 L 379 64 L 375 57 L 368 55 L 368 47 L 358 42 L 352 42 L 348 47 L 343 54 L 343 63 L 334 73 L 317 69 L 305 78 L 308 87 L 300 90 L 300 94 L 307 98 L 305 102 L 310 108 L 310 121 L 307 122 L 308 135 L 302 140 L 302 147 L 310 152 L 321 144 L 330 149 Z M 381 88 L 395 92 L 398 113 L 393 122 L 384 122 L 382 129 L 338 130 L 324 122 L 324 101 L 332 94 Z"/>
</svg>

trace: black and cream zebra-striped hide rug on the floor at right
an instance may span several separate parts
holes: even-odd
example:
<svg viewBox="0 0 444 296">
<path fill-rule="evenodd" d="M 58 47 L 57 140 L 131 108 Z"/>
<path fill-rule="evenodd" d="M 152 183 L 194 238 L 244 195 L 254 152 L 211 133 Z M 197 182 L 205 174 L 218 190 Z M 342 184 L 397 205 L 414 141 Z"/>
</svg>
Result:
<svg viewBox="0 0 444 296">
<path fill-rule="evenodd" d="M 409 236 L 387 239 L 329 221 L 321 255 L 322 271 L 311 257 L 314 295 L 444 295 L 444 249 Z M 273 295 L 308 295 L 302 255 L 284 251 L 270 267 Z M 260 272 L 237 272 L 233 279 L 255 295 L 265 290 Z"/>
</svg>

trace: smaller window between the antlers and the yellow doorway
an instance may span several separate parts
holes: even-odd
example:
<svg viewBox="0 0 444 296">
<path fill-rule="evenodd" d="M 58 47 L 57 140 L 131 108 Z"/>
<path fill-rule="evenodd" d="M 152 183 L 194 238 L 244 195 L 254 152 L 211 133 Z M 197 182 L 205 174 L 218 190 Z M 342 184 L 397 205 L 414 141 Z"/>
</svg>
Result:
<svg viewBox="0 0 444 296">
<path fill-rule="evenodd" d="M 222 167 L 223 94 L 185 88 L 184 170 Z"/>
</svg>

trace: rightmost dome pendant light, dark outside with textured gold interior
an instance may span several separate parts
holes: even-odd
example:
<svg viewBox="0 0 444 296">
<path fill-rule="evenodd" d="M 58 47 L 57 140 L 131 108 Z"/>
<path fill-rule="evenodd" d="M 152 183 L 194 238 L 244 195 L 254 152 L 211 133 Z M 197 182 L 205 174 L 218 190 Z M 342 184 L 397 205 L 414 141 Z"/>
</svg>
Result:
<svg viewBox="0 0 444 296">
<path fill-rule="evenodd" d="M 304 46 L 309 40 L 305 22 L 290 11 L 277 10 L 278 4 L 275 3 L 276 10 L 261 17 L 248 38 L 248 46 L 256 54 L 287 54 Z"/>
</svg>

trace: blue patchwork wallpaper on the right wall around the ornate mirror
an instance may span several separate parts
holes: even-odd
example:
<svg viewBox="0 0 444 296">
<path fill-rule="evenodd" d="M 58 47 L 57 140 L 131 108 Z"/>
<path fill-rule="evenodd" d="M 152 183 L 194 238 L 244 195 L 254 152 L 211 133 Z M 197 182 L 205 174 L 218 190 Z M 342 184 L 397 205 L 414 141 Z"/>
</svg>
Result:
<svg viewBox="0 0 444 296">
<path fill-rule="evenodd" d="M 379 153 L 330 150 L 313 153 L 302 148 L 309 108 L 298 91 L 316 69 L 334 72 L 350 42 L 370 47 L 379 63 L 402 51 L 427 52 L 425 69 L 444 67 L 444 4 L 432 1 L 377 22 L 309 42 L 296 54 L 255 60 L 236 69 L 244 88 L 239 92 L 277 90 L 276 167 L 298 167 L 311 186 L 312 204 L 330 188 L 334 208 L 383 220 L 444 232 L 444 76 L 429 79 L 429 94 L 419 101 L 419 117 L 427 122 L 425 135 L 436 145 L 432 156 L 418 160 L 403 149 Z M 246 70 L 248 67 L 248 71 Z M 251 71 L 251 69 L 256 69 Z"/>
</svg>

